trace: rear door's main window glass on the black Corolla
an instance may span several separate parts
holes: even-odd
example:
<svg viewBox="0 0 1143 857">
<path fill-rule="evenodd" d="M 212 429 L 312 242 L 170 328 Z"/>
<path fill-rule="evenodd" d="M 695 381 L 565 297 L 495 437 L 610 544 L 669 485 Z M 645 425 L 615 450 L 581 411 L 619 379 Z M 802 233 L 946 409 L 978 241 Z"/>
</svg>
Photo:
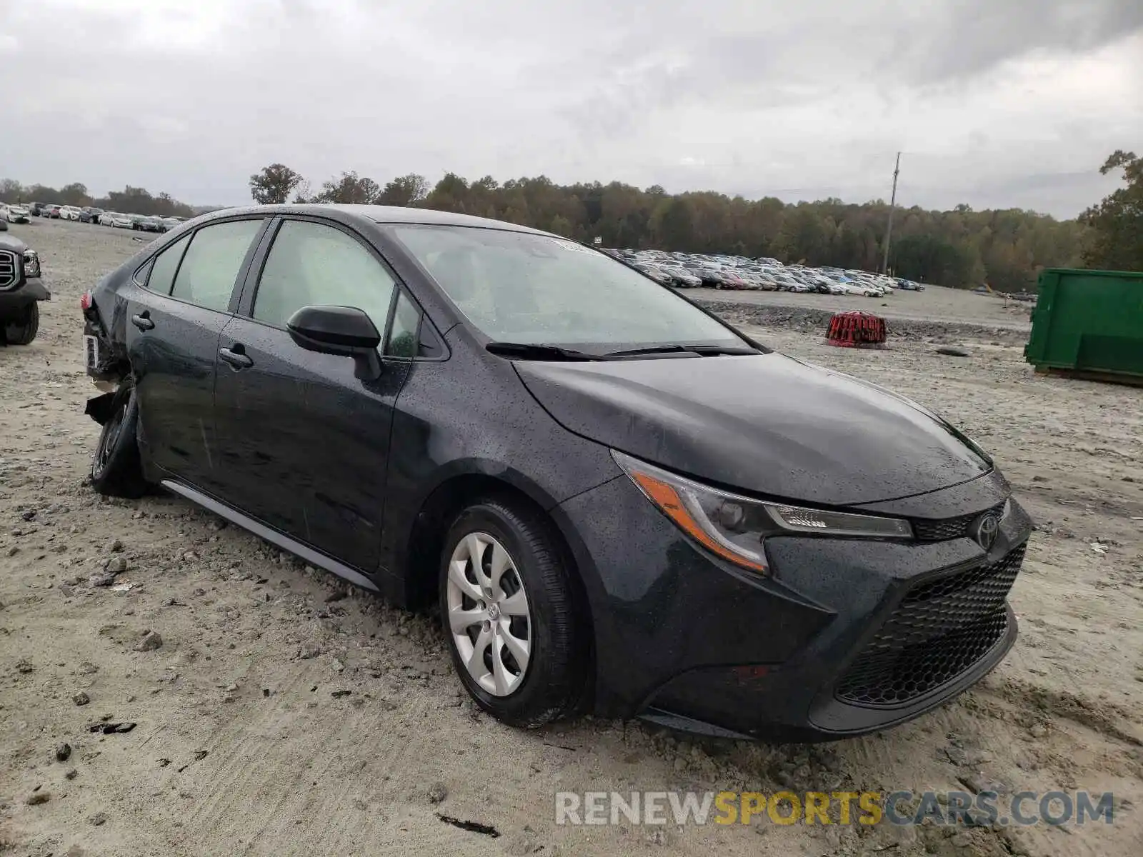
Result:
<svg viewBox="0 0 1143 857">
<path fill-rule="evenodd" d="M 195 232 L 178 266 L 171 297 L 225 312 L 250 241 L 261 229 L 261 219 L 231 221 Z"/>
</svg>

